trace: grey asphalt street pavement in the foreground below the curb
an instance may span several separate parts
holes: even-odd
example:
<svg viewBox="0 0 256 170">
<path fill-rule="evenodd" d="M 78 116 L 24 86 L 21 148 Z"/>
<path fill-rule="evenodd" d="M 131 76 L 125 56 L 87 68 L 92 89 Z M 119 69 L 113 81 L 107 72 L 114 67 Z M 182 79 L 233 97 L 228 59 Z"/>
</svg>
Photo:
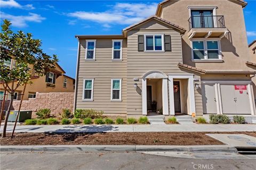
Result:
<svg viewBox="0 0 256 170">
<path fill-rule="evenodd" d="M 210 154 L 209 154 L 210 155 Z M 255 158 L 243 155 L 209 157 L 139 152 L 2 152 L 1 169 L 255 169 Z"/>
</svg>

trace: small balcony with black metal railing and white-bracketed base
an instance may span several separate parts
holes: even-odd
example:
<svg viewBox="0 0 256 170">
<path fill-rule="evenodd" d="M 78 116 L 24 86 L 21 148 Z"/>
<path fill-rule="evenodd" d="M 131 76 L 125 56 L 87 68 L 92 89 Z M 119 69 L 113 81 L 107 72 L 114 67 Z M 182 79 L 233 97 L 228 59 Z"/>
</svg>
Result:
<svg viewBox="0 0 256 170">
<path fill-rule="evenodd" d="M 223 15 L 191 16 L 188 23 L 189 39 L 223 38 L 228 33 Z"/>
</svg>

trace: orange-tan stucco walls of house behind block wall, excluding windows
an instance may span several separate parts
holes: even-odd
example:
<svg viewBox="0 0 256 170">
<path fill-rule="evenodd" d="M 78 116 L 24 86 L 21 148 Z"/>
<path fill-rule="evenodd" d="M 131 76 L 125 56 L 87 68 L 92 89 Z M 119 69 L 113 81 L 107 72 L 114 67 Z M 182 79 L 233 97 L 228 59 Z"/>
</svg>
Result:
<svg viewBox="0 0 256 170">
<path fill-rule="evenodd" d="M 58 75 L 55 79 L 54 87 L 47 86 L 45 82 L 46 75 L 41 77 L 35 77 L 31 79 L 31 84 L 27 84 L 23 100 L 28 100 L 29 94 L 36 94 L 36 92 L 74 92 L 74 79 L 65 75 L 65 71 L 61 69 L 59 65 L 55 65 L 55 69 L 52 72 L 58 72 Z M 63 87 L 64 79 L 67 79 L 67 87 Z M 14 87 L 17 83 L 14 83 Z M 23 91 L 23 86 L 19 86 L 16 90 L 18 92 L 18 100 L 21 99 L 21 94 Z M 4 91 L 3 84 L 1 84 L 1 91 Z"/>
</svg>

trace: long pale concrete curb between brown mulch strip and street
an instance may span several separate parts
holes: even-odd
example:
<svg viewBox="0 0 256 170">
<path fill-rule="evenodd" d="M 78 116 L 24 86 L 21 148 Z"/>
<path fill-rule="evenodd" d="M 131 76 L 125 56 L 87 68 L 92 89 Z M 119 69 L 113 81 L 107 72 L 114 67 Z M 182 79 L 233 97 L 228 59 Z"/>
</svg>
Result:
<svg viewBox="0 0 256 170">
<path fill-rule="evenodd" d="M 1 146 L 1 152 L 144 152 L 144 151 L 169 151 L 211 154 L 237 154 L 235 147 L 227 145 L 204 146 L 147 146 L 147 145 L 45 145 L 45 146 Z"/>
</svg>

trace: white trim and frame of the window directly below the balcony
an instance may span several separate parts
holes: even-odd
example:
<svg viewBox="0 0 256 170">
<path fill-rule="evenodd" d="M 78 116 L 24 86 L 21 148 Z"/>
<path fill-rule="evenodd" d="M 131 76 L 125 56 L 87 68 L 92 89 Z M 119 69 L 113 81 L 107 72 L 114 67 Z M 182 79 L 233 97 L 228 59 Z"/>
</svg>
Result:
<svg viewBox="0 0 256 170">
<path fill-rule="evenodd" d="M 191 60 L 194 62 L 222 62 L 222 51 L 221 51 L 221 43 L 220 38 L 193 38 L 190 40 L 190 47 L 191 47 Z M 204 42 L 204 59 L 194 59 L 194 53 L 193 53 L 193 41 L 203 41 Z M 219 58 L 213 58 L 209 59 L 207 54 L 207 41 L 217 41 L 218 47 L 219 47 Z M 213 49 L 212 49 L 213 50 Z"/>
</svg>

